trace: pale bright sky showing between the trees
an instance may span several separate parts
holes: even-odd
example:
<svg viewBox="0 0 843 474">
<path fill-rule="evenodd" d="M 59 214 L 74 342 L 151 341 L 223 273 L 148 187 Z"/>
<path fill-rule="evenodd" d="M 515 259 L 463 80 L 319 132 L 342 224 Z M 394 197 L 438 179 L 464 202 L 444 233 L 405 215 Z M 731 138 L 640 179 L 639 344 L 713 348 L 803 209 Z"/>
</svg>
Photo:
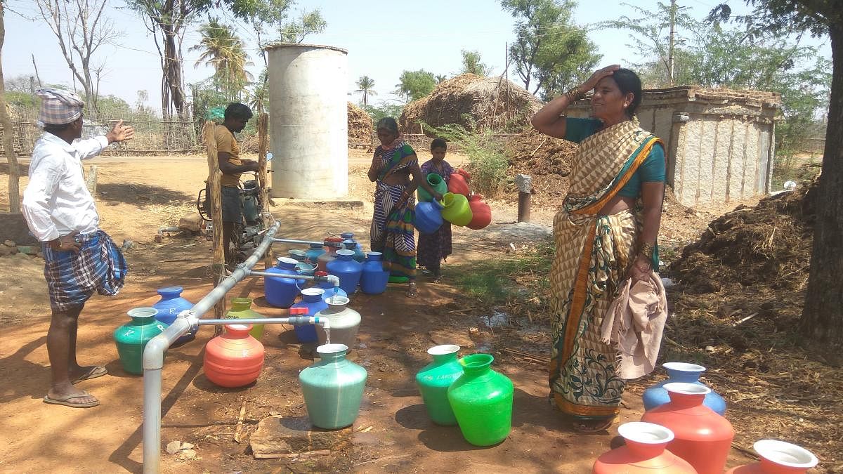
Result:
<svg viewBox="0 0 843 474">
<path fill-rule="evenodd" d="M 666 0 L 665 0 L 666 1 Z M 50 28 L 40 18 L 35 0 L 5 0 L 6 42 L 3 48 L 3 75 L 5 78 L 33 75 L 32 55 L 42 83 L 66 83 L 72 86 L 72 73 L 62 57 L 58 42 Z M 655 10 L 656 0 L 636 0 L 641 8 Z M 695 18 L 702 18 L 715 6 L 717 0 L 679 0 Z M 735 13 L 745 13 L 743 2 L 729 2 Z M 357 102 L 353 94 L 354 83 L 362 75 L 373 78 L 377 95 L 369 102 L 397 103 L 391 94 L 404 70 L 425 69 L 434 74 L 451 76 L 461 67 L 461 50 L 479 51 L 483 62 L 491 67 L 492 75 L 503 72 L 507 41 L 511 42 L 513 18 L 502 10 L 495 0 L 427 0 L 425 2 L 349 2 L 347 0 L 299 0 L 290 10 L 298 16 L 303 8 L 319 8 L 327 22 L 324 33 L 309 35 L 304 42 L 338 46 L 348 51 L 349 99 Z M 238 35 L 247 43 L 250 59 L 255 63 L 250 72 L 258 77 L 263 60 L 256 51 L 254 30 L 239 24 L 231 13 L 212 12 L 224 23 L 234 25 Z M 636 52 L 627 46 L 631 42 L 626 31 L 594 30 L 593 24 L 617 19 L 621 15 L 636 16 L 625 3 L 603 0 L 599 3 L 578 2 L 573 21 L 589 28 L 589 38 L 603 55 L 601 64 L 629 65 L 640 62 Z M 100 94 L 113 94 L 135 105 L 137 91 L 148 91 L 148 106 L 160 108 L 161 67 L 152 35 L 137 14 L 125 7 L 122 0 L 108 0 L 105 15 L 110 18 L 122 37 L 114 45 L 102 46 L 94 62 L 105 62 L 106 75 L 102 79 Z M 211 67 L 194 67 L 199 51 L 188 51 L 201 36 L 197 29 L 207 21 L 207 16 L 191 24 L 185 34 L 185 82 L 194 83 L 212 75 Z M 804 44 L 818 46 L 825 57 L 831 57 L 829 40 L 808 39 Z M 510 78 L 523 86 L 510 67 Z"/>
</svg>

